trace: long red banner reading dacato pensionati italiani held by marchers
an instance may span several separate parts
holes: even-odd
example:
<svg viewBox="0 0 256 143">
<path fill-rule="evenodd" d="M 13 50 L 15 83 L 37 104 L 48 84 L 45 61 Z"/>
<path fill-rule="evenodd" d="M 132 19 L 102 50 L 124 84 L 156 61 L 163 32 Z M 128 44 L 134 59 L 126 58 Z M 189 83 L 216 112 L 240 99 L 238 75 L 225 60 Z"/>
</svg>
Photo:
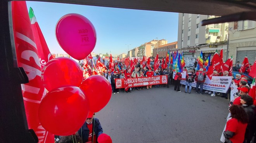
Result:
<svg viewBox="0 0 256 143">
<path fill-rule="evenodd" d="M 115 79 L 116 88 L 125 88 L 125 82 L 128 83 L 128 87 L 138 87 L 138 86 L 150 86 L 156 84 L 167 84 L 168 76 L 151 76 L 151 77 L 137 77 L 125 79 Z"/>
</svg>

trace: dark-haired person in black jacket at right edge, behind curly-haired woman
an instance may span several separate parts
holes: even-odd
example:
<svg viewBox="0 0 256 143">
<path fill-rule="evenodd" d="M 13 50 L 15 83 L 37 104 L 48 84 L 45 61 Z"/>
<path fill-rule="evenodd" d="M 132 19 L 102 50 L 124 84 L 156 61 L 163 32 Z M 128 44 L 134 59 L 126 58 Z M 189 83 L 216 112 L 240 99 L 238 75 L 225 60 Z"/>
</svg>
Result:
<svg viewBox="0 0 256 143">
<path fill-rule="evenodd" d="M 244 143 L 251 143 L 251 140 L 253 138 L 253 133 L 254 133 L 253 125 L 254 125 L 255 106 L 253 105 L 253 98 L 249 95 L 242 95 L 240 102 L 249 119 L 249 122 L 246 128 L 246 133 L 244 136 Z"/>
</svg>

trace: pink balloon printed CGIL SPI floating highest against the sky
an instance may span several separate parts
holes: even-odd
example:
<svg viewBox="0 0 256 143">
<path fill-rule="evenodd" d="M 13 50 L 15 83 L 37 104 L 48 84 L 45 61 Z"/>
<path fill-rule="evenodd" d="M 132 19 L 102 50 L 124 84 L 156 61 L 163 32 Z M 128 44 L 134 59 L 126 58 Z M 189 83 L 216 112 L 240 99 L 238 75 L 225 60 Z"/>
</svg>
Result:
<svg viewBox="0 0 256 143">
<path fill-rule="evenodd" d="M 62 49 L 77 60 L 85 59 L 96 44 L 96 30 L 93 24 L 77 13 L 69 13 L 59 19 L 56 37 Z"/>
</svg>

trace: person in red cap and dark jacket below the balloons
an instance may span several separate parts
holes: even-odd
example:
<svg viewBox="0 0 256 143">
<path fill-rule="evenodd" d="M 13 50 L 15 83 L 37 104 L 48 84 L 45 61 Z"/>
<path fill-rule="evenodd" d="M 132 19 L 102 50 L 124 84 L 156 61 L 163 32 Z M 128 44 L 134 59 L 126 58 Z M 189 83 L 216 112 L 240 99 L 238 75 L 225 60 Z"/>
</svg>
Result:
<svg viewBox="0 0 256 143">
<path fill-rule="evenodd" d="M 80 130 L 78 130 L 78 134 L 81 137 L 82 143 L 86 143 L 88 141 L 97 143 L 98 137 L 103 133 L 99 119 L 93 118 L 93 115 L 94 113 L 89 112 L 85 123 L 80 128 Z"/>
</svg>

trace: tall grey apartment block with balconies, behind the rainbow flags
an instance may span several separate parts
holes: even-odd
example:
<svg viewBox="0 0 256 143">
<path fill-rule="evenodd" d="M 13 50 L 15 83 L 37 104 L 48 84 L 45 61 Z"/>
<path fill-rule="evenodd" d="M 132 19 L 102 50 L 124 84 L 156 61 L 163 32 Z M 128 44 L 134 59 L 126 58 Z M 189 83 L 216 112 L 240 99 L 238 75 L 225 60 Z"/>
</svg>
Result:
<svg viewBox="0 0 256 143">
<path fill-rule="evenodd" d="M 203 60 L 214 52 L 223 49 L 223 60 L 227 59 L 228 23 L 201 26 L 204 19 L 216 18 L 214 15 L 179 13 L 178 49 L 182 49 L 187 66 L 192 66 L 203 52 Z"/>
</svg>

